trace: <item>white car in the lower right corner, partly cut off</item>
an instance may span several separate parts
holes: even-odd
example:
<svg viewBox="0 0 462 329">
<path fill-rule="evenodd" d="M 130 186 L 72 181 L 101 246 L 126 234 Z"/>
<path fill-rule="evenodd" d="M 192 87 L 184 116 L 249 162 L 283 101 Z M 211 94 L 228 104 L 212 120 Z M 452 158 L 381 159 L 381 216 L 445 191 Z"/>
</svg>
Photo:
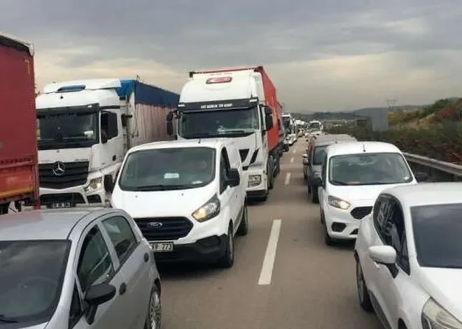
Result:
<svg viewBox="0 0 462 329">
<path fill-rule="evenodd" d="M 391 329 L 462 328 L 462 183 L 385 190 L 354 256 L 360 306 Z"/>
</svg>

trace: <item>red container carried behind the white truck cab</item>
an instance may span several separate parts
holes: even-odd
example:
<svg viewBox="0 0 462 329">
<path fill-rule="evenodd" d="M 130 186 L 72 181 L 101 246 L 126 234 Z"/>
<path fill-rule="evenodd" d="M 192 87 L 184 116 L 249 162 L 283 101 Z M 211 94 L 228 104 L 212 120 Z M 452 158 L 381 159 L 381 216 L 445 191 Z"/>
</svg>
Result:
<svg viewBox="0 0 462 329">
<path fill-rule="evenodd" d="M 275 148 L 280 146 L 279 130 L 281 129 L 281 125 L 279 124 L 278 120 L 280 121 L 282 113 L 281 113 L 281 108 L 279 106 L 279 102 L 277 100 L 276 87 L 274 87 L 274 84 L 272 83 L 271 78 L 269 78 L 263 66 L 244 67 L 244 68 L 239 68 L 239 69 L 191 71 L 189 73 L 189 76 L 190 78 L 192 78 L 193 75 L 197 73 L 221 73 L 221 72 L 248 71 L 248 70 L 253 70 L 261 74 L 262 81 L 263 81 L 263 90 L 265 92 L 265 105 L 269 106 L 273 112 L 272 113 L 273 127 L 267 132 L 268 151 L 272 152 L 274 151 Z"/>
</svg>

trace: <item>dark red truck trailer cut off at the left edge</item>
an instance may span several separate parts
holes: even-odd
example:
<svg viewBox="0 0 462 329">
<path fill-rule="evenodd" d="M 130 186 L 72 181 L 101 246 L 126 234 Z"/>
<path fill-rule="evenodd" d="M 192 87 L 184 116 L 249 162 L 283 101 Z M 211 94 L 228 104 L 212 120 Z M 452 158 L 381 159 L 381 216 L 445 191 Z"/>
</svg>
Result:
<svg viewBox="0 0 462 329">
<path fill-rule="evenodd" d="M 0 214 L 12 202 L 40 207 L 34 48 L 0 34 Z"/>
</svg>

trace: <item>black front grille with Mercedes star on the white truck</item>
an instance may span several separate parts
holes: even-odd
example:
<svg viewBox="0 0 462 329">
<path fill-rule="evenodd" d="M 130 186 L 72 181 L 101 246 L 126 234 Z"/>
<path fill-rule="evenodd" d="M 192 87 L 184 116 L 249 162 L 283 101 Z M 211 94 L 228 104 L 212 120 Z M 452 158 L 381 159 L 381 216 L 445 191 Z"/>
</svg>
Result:
<svg viewBox="0 0 462 329">
<path fill-rule="evenodd" d="M 53 169 L 56 163 L 43 164 L 38 166 L 41 188 L 71 188 L 87 183 L 88 161 L 62 162 L 64 173 L 61 176 L 55 175 Z"/>
</svg>

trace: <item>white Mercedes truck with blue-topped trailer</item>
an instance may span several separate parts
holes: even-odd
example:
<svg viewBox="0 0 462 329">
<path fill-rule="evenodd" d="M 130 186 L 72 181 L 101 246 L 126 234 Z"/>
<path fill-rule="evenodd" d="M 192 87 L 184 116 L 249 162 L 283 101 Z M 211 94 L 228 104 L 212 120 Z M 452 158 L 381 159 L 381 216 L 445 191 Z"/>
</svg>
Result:
<svg viewBox="0 0 462 329">
<path fill-rule="evenodd" d="M 109 202 L 128 149 L 171 139 L 179 94 L 134 79 L 51 83 L 36 98 L 41 204 Z"/>
</svg>

